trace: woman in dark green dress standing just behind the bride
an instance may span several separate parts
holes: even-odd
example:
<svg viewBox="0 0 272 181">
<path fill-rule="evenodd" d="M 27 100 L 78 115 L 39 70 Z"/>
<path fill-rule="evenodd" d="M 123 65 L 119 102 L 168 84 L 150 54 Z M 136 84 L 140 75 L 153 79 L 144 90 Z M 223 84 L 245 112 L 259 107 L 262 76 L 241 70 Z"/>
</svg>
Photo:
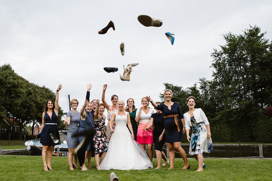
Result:
<svg viewBox="0 0 272 181">
<path fill-rule="evenodd" d="M 131 122 L 133 133 L 134 133 L 134 140 L 137 141 L 138 123 L 135 121 L 137 109 L 135 109 L 135 106 L 134 106 L 134 99 L 128 98 L 125 111 L 129 112 L 130 122 Z"/>
</svg>

